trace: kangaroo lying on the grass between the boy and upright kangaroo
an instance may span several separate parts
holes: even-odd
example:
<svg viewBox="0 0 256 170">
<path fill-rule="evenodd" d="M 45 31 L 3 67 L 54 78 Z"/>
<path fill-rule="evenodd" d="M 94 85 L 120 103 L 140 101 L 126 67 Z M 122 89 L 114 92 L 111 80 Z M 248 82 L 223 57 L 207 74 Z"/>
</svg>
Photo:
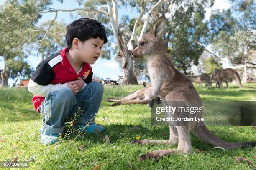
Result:
<svg viewBox="0 0 256 170">
<path fill-rule="evenodd" d="M 151 93 L 151 86 L 146 87 L 146 83 L 143 83 L 144 88 L 131 92 L 128 96 L 122 99 L 108 98 L 105 101 L 116 102 L 111 106 L 127 105 L 127 104 L 148 104 L 149 95 Z"/>
</svg>

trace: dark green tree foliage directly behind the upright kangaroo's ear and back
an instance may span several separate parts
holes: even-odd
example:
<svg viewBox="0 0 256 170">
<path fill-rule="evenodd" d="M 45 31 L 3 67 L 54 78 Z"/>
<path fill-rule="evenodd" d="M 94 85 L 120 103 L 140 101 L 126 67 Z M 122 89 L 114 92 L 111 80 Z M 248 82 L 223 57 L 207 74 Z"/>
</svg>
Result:
<svg viewBox="0 0 256 170">
<path fill-rule="evenodd" d="M 183 3 L 183 2 L 182 2 Z M 207 44 L 208 28 L 205 18 L 207 1 L 186 1 L 177 5 L 173 11 L 173 20 L 168 24 L 170 34 L 169 50 L 174 66 L 187 74 L 192 63 L 198 65 L 198 60 Z"/>
</svg>

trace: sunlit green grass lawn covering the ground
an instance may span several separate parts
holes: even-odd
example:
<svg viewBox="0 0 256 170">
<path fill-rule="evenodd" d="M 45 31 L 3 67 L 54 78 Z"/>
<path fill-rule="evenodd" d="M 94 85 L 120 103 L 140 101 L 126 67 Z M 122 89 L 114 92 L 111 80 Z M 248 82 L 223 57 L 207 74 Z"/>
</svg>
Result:
<svg viewBox="0 0 256 170">
<path fill-rule="evenodd" d="M 256 87 L 256 84 L 245 84 Z M 142 85 L 105 86 L 103 99 L 128 95 Z M 255 89 L 228 89 L 196 87 L 203 101 L 256 100 Z M 256 163 L 256 147 L 234 150 L 212 149 L 194 135 L 191 141 L 194 153 L 170 155 L 158 162 L 138 161 L 141 154 L 153 150 L 177 148 L 177 145 L 131 145 L 136 138 L 169 139 L 169 128 L 151 126 L 148 105 L 123 105 L 111 107 L 102 101 L 96 122 L 104 125 L 103 134 L 79 134 L 67 123 L 65 133 L 55 145 L 40 141 L 41 118 L 33 109 L 32 94 L 22 89 L 0 89 L 0 161 L 30 161 L 34 169 L 232 169 L 250 170 L 251 163 L 238 163 L 244 157 Z M 210 126 L 213 133 L 228 142 L 255 141 L 256 130 L 251 126 Z M 108 135 L 111 145 L 104 140 Z M 18 156 L 18 157 L 17 157 Z"/>
</svg>

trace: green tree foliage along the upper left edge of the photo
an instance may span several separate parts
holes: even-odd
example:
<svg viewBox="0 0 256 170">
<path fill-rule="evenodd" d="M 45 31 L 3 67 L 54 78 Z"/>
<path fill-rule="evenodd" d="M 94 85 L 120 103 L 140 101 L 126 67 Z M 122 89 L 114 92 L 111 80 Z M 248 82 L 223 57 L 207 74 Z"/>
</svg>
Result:
<svg viewBox="0 0 256 170">
<path fill-rule="evenodd" d="M 40 18 L 40 16 L 36 16 L 36 13 L 38 10 L 44 9 L 44 7 L 38 6 L 41 4 L 40 2 L 36 0 L 6 0 L 3 5 L 0 5 L 0 58 L 3 58 L 5 68 L 1 74 L 3 86 L 7 86 L 6 80 L 8 80 L 10 72 L 16 72 L 14 71 L 16 68 L 10 68 L 15 65 L 15 63 L 11 63 L 15 61 L 14 58 L 18 57 L 22 61 L 27 57 L 26 53 L 31 51 L 31 48 L 27 46 L 35 40 L 34 25 Z"/>
</svg>

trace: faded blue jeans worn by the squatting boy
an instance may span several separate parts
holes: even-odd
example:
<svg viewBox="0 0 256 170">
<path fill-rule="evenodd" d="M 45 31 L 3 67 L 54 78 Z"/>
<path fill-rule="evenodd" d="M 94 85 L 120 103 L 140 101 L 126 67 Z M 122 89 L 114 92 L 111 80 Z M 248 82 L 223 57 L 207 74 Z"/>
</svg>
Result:
<svg viewBox="0 0 256 170">
<path fill-rule="evenodd" d="M 83 111 L 76 122 L 91 125 L 99 111 L 102 96 L 103 86 L 99 82 L 90 82 L 77 95 L 68 87 L 49 92 L 40 107 L 42 133 L 63 133 L 65 122 L 74 119 L 78 107 Z"/>
</svg>

